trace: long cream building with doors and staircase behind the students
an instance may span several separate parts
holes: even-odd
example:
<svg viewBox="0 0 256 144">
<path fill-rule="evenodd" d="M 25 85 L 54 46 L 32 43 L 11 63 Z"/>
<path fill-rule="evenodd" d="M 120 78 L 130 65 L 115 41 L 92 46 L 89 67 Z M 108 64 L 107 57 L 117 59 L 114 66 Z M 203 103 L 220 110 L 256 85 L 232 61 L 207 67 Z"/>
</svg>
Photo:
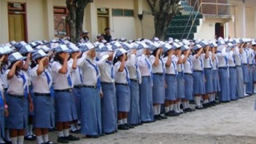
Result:
<svg viewBox="0 0 256 144">
<path fill-rule="evenodd" d="M 181 1 L 182 15 L 173 19 L 166 38 L 256 37 L 255 0 L 246 0 L 246 3 L 243 0 L 198 0 L 194 4 L 195 1 Z M 195 21 L 189 19 L 191 12 L 193 18 L 198 12 Z M 49 40 L 58 33 L 68 36 L 67 13 L 65 0 L 1 0 L 0 44 L 11 40 Z M 141 14 L 143 19 L 140 20 L 138 15 Z M 83 29 L 90 32 L 90 39 L 94 41 L 97 34 L 104 33 L 105 27 L 110 27 L 111 35 L 116 38 L 154 37 L 154 17 L 147 0 L 94 0 L 89 3 Z"/>
</svg>

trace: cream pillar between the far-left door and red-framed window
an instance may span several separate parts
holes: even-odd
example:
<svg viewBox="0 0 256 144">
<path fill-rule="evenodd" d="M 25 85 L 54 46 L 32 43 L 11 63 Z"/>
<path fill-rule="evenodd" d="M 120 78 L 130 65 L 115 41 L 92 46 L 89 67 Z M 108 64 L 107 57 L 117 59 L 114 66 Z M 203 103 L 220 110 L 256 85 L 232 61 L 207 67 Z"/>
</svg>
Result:
<svg viewBox="0 0 256 144">
<path fill-rule="evenodd" d="M 45 38 L 54 39 L 54 3 L 53 0 L 44 1 L 45 10 Z"/>
</svg>

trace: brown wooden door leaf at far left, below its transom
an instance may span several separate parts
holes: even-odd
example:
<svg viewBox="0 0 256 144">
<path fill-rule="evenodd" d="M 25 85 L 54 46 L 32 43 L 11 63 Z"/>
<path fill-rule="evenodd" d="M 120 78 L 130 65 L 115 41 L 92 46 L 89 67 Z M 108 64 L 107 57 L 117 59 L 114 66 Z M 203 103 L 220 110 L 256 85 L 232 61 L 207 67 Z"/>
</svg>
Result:
<svg viewBox="0 0 256 144">
<path fill-rule="evenodd" d="M 9 41 L 15 40 L 16 42 L 25 41 L 25 19 L 24 15 L 9 14 Z"/>
</svg>

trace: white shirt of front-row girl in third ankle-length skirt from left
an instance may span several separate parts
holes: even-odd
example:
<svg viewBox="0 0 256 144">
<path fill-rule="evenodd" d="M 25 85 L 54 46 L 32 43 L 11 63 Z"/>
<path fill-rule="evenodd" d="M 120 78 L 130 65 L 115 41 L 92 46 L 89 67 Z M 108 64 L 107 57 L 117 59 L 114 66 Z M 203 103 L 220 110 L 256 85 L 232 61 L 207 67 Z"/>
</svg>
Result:
<svg viewBox="0 0 256 144">
<path fill-rule="evenodd" d="M 126 65 L 129 70 L 129 78 L 132 80 L 138 80 L 141 83 L 141 71 L 138 67 L 137 61 L 138 60 L 136 60 L 136 55 L 131 54 L 129 60 L 126 62 Z"/>
</svg>

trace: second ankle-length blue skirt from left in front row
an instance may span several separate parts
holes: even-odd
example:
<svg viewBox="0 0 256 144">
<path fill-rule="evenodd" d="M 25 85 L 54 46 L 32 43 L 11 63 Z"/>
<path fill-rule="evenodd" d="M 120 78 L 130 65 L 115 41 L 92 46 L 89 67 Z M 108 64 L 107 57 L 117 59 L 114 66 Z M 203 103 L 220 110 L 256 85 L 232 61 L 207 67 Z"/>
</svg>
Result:
<svg viewBox="0 0 256 144">
<path fill-rule="evenodd" d="M 118 109 L 116 105 L 115 83 L 102 82 L 103 98 L 102 104 L 102 132 L 115 132 L 118 120 Z"/>
</svg>

